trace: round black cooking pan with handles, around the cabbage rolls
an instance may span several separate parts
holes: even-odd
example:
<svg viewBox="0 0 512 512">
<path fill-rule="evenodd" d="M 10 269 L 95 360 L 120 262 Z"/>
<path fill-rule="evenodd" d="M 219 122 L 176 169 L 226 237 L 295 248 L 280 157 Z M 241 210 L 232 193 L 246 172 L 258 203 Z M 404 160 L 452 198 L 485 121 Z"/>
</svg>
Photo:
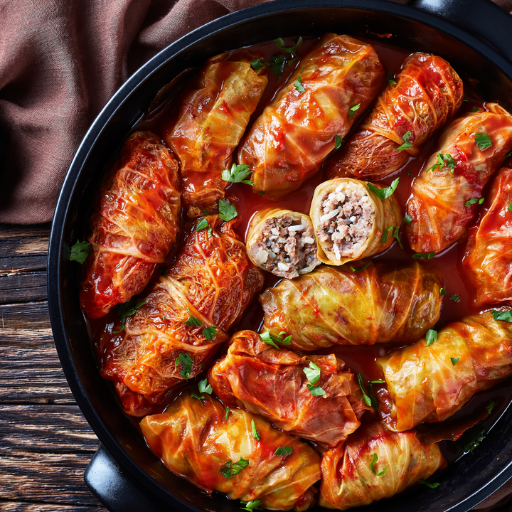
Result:
<svg viewBox="0 0 512 512">
<path fill-rule="evenodd" d="M 144 115 L 156 92 L 182 70 L 201 65 L 224 50 L 276 37 L 333 31 L 371 38 L 372 33 L 391 33 L 390 43 L 442 55 L 463 80 L 476 79 L 472 84 L 481 97 L 512 110 L 512 18 L 490 0 L 417 0 L 414 6 L 421 10 L 378 0 L 318 4 L 278 0 L 224 16 L 171 44 L 140 68 L 87 132 L 55 210 L 48 253 L 48 299 L 66 378 L 102 442 L 85 480 L 111 511 L 235 512 L 239 504 L 220 494 L 208 496 L 171 474 L 149 452 L 122 412 L 114 391 L 97 372 L 78 304 L 77 267 L 69 262 L 69 254 L 70 241 L 84 238 L 87 211 L 105 163 Z M 511 455 L 512 410 L 508 407 L 479 449 L 439 477 L 441 485 L 435 491 L 415 489 L 358 510 L 392 506 L 394 512 L 469 511 L 512 477 Z"/>
</svg>

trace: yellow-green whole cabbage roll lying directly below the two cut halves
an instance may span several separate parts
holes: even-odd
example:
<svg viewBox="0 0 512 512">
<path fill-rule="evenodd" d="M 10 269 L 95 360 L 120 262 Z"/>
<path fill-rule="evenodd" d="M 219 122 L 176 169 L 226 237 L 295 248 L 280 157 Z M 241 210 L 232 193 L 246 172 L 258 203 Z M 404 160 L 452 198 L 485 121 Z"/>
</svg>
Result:
<svg viewBox="0 0 512 512">
<path fill-rule="evenodd" d="M 439 272 L 415 262 L 408 267 L 369 265 L 352 272 L 319 267 L 283 279 L 260 295 L 264 327 L 292 335 L 291 348 L 415 341 L 439 319 Z"/>
</svg>

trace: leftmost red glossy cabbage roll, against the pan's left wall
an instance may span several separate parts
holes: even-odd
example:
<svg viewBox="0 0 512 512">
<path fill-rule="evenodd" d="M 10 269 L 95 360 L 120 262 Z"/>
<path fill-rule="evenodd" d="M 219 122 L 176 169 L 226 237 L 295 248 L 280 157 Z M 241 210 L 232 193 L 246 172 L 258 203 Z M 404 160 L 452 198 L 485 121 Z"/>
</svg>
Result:
<svg viewBox="0 0 512 512">
<path fill-rule="evenodd" d="M 178 163 L 161 139 L 134 132 L 102 181 L 80 306 L 89 318 L 142 292 L 178 234 Z"/>
</svg>

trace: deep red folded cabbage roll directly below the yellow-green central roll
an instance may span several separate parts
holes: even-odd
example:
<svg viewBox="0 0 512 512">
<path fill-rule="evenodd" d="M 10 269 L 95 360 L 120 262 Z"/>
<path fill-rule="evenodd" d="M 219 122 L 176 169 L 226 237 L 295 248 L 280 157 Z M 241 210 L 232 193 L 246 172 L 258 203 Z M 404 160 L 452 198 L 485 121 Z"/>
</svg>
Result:
<svg viewBox="0 0 512 512">
<path fill-rule="evenodd" d="M 314 396 L 307 387 L 304 368 L 311 369 L 311 362 L 320 369 L 314 385 L 324 395 Z M 290 434 L 334 447 L 361 425 L 364 412 L 373 413 L 344 366 L 334 354 L 298 356 L 272 348 L 253 331 L 240 331 L 208 380 L 226 405 L 242 405 Z"/>
</svg>

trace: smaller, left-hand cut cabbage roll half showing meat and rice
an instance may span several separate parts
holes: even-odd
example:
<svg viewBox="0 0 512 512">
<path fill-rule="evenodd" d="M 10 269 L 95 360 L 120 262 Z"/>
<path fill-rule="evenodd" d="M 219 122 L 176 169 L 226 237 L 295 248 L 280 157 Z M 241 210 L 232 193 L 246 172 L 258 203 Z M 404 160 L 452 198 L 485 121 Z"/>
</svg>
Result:
<svg viewBox="0 0 512 512">
<path fill-rule="evenodd" d="M 257 267 L 279 277 L 291 279 L 320 265 L 313 225 L 304 213 L 279 208 L 257 212 L 246 245 Z"/>
</svg>

